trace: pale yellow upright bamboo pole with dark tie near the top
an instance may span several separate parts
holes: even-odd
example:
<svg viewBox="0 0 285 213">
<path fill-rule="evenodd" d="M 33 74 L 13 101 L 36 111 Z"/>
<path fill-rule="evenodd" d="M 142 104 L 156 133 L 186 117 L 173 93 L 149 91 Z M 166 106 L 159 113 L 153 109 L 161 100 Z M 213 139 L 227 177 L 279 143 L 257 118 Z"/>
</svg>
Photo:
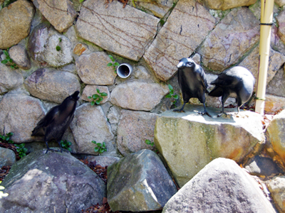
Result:
<svg viewBox="0 0 285 213">
<path fill-rule="evenodd" d="M 274 0 L 261 0 L 259 75 L 257 80 L 257 102 L 255 111 L 264 114 L 266 78 L 269 63 L 271 23 L 273 19 Z"/>
</svg>

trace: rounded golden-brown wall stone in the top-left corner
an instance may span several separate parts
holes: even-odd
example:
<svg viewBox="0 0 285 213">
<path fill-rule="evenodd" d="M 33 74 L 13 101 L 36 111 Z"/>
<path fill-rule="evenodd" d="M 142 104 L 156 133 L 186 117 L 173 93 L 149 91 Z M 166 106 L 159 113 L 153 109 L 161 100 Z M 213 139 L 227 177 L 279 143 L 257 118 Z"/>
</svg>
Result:
<svg viewBox="0 0 285 213">
<path fill-rule="evenodd" d="M 30 33 L 35 10 L 26 0 L 16 1 L 0 11 L 0 49 L 16 45 Z"/>
</svg>

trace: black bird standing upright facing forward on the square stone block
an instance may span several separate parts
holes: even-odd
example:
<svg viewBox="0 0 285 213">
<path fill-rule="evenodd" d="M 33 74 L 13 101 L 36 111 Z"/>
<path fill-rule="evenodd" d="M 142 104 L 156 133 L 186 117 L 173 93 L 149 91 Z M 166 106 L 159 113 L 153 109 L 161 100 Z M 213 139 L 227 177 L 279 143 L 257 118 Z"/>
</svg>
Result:
<svg viewBox="0 0 285 213">
<path fill-rule="evenodd" d="M 173 111 L 183 111 L 185 104 L 189 102 L 192 97 L 198 98 L 199 102 L 203 103 L 204 111 L 199 112 L 199 114 L 209 113 L 205 107 L 205 92 L 209 93 L 207 90 L 208 84 L 206 80 L 206 75 L 202 67 L 197 65 L 191 58 L 182 58 L 177 65 L 178 68 L 178 83 L 182 91 L 183 106 L 181 109 L 175 109 Z"/>
</svg>

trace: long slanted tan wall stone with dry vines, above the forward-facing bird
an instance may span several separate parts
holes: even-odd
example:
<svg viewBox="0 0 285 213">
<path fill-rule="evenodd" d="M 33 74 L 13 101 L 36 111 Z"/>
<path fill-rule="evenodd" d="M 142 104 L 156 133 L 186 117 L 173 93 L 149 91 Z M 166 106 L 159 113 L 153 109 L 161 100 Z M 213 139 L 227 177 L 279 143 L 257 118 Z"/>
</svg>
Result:
<svg viewBox="0 0 285 213">
<path fill-rule="evenodd" d="M 180 0 L 143 58 L 155 76 L 169 80 L 181 58 L 191 55 L 214 28 L 215 19 L 195 0 Z"/>
</svg>

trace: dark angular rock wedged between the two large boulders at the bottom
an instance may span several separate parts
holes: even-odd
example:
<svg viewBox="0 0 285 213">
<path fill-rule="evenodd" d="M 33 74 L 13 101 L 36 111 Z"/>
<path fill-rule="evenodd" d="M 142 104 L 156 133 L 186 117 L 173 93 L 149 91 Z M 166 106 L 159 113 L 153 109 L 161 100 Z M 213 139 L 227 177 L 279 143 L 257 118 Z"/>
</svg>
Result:
<svg viewBox="0 0 285 213">
<path fill-rule="evenodd" d="M 108 166 L 107 196 L 113 212 L 162 209 L 175 192 L 174 182 L 152 151 L 138 151 Z"/>
</svg>

